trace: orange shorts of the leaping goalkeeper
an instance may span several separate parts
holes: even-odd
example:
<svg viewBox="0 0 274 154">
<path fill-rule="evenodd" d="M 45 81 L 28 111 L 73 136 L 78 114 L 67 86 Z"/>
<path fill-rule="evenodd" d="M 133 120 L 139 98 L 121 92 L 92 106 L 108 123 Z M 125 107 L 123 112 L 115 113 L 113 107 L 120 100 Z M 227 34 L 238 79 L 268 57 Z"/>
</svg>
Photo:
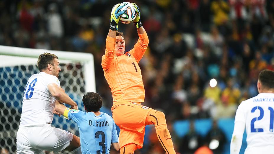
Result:
<svg viewBox="0 0 274 154">
<path fill-rule="evenodd" d="M 143 147 L 146 119 L 152 109 L 140 103 L 124 103 L 112 107 L 114 122 L 120 127 L 120 149 L 130 143 Z"/>
</svg>

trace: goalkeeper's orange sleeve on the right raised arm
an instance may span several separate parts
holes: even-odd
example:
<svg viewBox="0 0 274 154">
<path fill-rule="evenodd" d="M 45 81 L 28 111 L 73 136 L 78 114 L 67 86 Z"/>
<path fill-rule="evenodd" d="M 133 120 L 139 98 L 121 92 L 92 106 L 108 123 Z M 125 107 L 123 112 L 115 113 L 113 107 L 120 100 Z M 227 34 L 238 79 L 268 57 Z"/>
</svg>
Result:
<svg viewBox="0 0 274 154">
<path fill-rule="evenodd" d="M 139 39 L 131 50 L 137 63 L 139 63 L 146 51 L 147 46 L 149 45 L 149 37 L 147 36 L 146 32 L 138 35 Z"/>
</svg>

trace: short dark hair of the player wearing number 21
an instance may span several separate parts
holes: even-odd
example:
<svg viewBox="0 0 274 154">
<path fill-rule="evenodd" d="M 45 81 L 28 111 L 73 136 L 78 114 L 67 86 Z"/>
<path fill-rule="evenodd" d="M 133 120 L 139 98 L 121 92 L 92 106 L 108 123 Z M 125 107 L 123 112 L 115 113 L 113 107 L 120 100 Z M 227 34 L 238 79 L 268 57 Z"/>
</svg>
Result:
<svg viewBox="0 0 274 154">
<path fill-rule="evenodd" d="M 271 70 L 262 70 L 259 74 L 259 81 L 262 86 L 267 89 L 274 88 L 274 71 Z"/>
</svg>

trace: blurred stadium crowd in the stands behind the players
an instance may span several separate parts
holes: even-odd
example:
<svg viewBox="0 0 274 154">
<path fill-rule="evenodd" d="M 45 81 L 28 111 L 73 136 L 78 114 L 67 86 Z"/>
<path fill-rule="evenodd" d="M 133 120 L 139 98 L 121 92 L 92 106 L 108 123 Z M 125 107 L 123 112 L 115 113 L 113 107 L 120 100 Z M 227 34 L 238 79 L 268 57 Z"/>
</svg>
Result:
<svg viewBox="0 0 274 154">
<path fill-rule="evenodd" d="M 150 41 L 139 63 L 146 91 L 143 105 L 163 111 L 169 127 L 181 119 L 233 118 L 242 100 L 258 94 L 258 73 L 274 70 L 272 0 L 128 1 L 139 6 Z M 110 109 L 112 95 L 101 57 L 110 12 L 118 2 L 0 1 L 0 45 L 92 53 L 96 89 Z M 118 25 L 128 51 L 138 39 L 136 28 Z M 215 87 L 209 86 L 212 78 Z M 147 153 L 163 153 L 154 137 L 149 140 L 155 146 Z M 180 146 L 185 140 L 187 136 L 175 142 L 180 153 L 188 148 Z"/>
</svg>

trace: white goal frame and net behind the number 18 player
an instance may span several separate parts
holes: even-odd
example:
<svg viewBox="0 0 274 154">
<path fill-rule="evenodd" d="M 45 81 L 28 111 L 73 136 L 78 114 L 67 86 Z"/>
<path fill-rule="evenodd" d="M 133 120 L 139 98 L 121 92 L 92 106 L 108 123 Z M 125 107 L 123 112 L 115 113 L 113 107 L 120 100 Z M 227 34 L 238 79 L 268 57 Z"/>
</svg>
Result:
<svg viewBox="0 0 274 154">
<path fill-rule="evenodd" d="M 22 100 L 27 80 L 35 73 L 38 56 L 42 53 L 58 56 L 61 87 L 80 110 L 84 110 L 82 97 L 85 92 L 95 92 L 93 55 L 42 49 L 28 49 L 0 45 L 0 147 L 16 152 L 16 134 L 22 112 Z M 54 115 L 52 125 L 79 136 L 77 125 Z M 67 153 L 67 152 L 64 152 Z"/>
</svg>

